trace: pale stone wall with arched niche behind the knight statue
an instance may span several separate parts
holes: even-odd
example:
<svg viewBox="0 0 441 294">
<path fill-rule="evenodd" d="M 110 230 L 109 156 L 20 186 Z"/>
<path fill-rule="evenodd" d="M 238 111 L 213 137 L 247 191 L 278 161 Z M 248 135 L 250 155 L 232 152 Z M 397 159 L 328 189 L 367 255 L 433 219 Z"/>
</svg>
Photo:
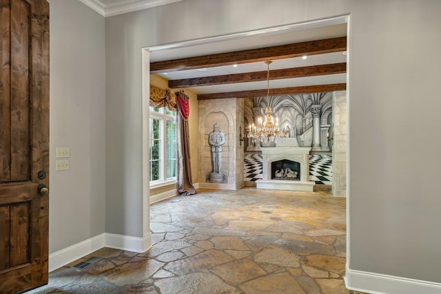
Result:
<svg viewBox="0 0 441 294">
<path fill-rule="evenodd" d="M 239 144 L 239 126 L 243 127 L 243 98 L 203 100 L 198 104 L 199 127 L 199 175 L 198 187 L 238 189 L 243 187 L 243 147 Z M 225 134 L 222 147 L 222 164 L 220 171 L 226 177 L 224 183 L 209 182 L 212 171 L 212 152 L 208 135 L 218 123 L 220 131 Z"/>
</svg>

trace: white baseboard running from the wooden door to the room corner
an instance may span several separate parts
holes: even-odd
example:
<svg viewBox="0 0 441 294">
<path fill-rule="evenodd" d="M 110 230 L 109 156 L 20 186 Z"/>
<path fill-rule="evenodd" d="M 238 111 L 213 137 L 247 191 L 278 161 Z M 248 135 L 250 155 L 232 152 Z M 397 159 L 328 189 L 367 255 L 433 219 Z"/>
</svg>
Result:
<svg viewBox="0 0 441 294">
<path fill-rule="evenodd" d="M 104 247 L 105 233 L 73 244 L 49 255 L 49 271 L 54 271 Z"/>
</svg>

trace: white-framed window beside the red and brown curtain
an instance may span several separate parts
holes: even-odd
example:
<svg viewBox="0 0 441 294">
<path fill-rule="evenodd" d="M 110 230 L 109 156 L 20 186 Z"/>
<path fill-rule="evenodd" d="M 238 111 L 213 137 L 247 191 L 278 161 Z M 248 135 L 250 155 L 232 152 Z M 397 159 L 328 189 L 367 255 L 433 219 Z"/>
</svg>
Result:
<svg viewBox="0 0 441 294">
<path fill-rule="evenodd" d="M 150 184 L 176 180 L 176 112 L 150 107 Z"/>
</svg>

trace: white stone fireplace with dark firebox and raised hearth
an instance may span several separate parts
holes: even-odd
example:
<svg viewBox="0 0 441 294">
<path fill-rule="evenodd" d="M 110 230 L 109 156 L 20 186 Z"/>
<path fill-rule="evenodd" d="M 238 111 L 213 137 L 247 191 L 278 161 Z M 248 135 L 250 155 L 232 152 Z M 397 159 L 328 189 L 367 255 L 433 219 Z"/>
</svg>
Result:
<svg viewBox="0 0 441 294">
<path fill-rule="evenodd" d="M 309 181 L 311 148 L 260 147 L 260 150 L 263 155 L 263 178 L 256 180 L 257 189 L 314 191 L 316 183 Z"/>
</svg>

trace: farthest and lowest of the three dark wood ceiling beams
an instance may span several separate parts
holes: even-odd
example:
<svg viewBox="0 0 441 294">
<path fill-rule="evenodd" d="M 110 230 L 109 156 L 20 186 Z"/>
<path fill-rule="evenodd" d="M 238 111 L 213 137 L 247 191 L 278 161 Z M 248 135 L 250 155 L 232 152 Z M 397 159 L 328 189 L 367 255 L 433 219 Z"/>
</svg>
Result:
<svg viewBox="0 0 441 294">
<path fill-rule="evenodd" d="M 322 93 L 322 92 L 333 92 L 333 91 L 342 91 L 342 90 L 346 90 L 346 83 L 270 89 L 269 95 L 276 96 L 276 95 L 285 95 L 285 94 Z M 198 100 L 222 99 L 222 98 L 247 98 L 247 97 L 262 97 L 262 96 L 267 96 L 266 89 L 214 93 L 214 94 L 198 94 Z"/>
</svg>

